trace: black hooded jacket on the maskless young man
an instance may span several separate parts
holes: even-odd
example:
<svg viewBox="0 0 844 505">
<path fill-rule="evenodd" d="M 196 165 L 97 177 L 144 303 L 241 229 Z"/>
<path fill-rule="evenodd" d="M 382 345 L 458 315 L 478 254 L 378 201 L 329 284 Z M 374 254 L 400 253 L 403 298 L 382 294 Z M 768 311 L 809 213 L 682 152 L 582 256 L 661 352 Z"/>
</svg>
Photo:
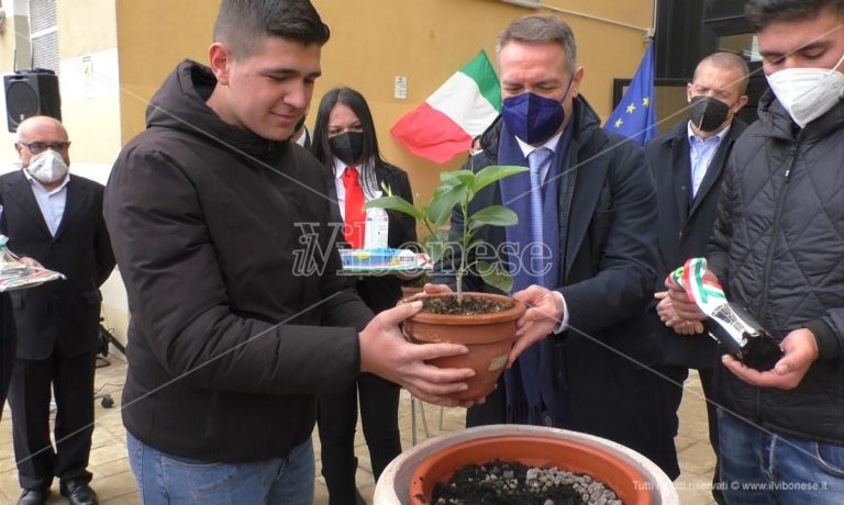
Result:
<svg viewBox="0 0 844 505">
<path fill-rule="evenodd" d="M 132 315 L 123 422 L 169 454 L 260 461 L 357 378 L 371 312 L 336 276 L 320 164 L 221 121 L 214 85 L 181 63 L 106 190 Z"/>
</svg>

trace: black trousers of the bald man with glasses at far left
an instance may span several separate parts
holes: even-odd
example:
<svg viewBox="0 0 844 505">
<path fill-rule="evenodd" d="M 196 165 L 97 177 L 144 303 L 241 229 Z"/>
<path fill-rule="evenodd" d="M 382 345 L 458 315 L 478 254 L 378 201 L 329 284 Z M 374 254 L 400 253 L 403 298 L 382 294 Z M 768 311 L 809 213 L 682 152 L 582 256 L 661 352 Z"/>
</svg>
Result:
<svg viewBox="0 0 844 505">
<path fill-rule="evenodd" d="M 12 437 L 21 487 L 44 490 L 53 478 L 88 483 L 93 434 L 96 355 L 16 359 L 9 391 Z M 56 400 L 54 436 L 49 439 L 51 388 Z"/>
</svg>

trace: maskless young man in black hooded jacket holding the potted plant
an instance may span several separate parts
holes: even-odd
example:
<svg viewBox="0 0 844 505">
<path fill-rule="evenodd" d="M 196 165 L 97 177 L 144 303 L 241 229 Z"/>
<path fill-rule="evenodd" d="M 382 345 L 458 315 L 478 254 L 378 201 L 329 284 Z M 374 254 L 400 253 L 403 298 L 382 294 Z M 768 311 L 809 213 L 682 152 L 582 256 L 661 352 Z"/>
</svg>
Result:
<svg viewBox="0 0 844 505">
<path fill-rule="evenodd" d="M 337 274 L 325 179 L 290 141 L 329 38 L 304 0 L 223 0 L 210 67 L 186 60 L 121 152 L 106 218 L 132 315 L 123 420 L 148 503 L 313 501 L 316 394 L 370 372 L 427 402 L 471 369 L 373 318 Z M 314 252 L 315 251 L 315 252 Z"/>
</svg>

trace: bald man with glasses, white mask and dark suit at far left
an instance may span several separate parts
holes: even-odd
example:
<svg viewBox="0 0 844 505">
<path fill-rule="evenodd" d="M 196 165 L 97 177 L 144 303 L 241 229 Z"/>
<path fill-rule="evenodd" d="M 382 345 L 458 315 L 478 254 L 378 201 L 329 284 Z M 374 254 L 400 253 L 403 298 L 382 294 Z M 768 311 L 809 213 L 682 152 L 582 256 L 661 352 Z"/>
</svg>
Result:
<svg viewBox="0 0 844 505">
<path fill-rule="evenodd" d="M 100 285 L 114 268 L 102 217 L 103 187 L 70 176 L 67 131 L 46 116 L 18 127 L 22 170 L 0 177 L 0 233 L 9 248 L 67 279 L 10 293 L 18 351 L 9 402 L 23 494 L 46 503 L 53 478 L 71 504 L 95 504 L 88 457 L 93 433 L 93 372 Z M 55 451 L 49 439 L 56 401 Z"/>
</svg>

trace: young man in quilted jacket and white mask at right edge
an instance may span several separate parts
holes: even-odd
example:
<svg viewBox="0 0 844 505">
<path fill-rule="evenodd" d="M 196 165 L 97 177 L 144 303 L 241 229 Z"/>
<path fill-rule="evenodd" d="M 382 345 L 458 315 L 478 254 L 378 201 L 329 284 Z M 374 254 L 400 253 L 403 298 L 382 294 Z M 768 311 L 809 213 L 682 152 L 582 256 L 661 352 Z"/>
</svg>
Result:
<svg viewBox="0 0 844 505">
<path fill-rule="evenodd" d="M 707 260 L 780 340 L 759 372 L 715 368 L 728 503 L 844 496 L 844 1 L 751 0 L 771 90 L 734 148 Z M 678 315 L 703 314 L 671 285 Z"/>
</svg>

